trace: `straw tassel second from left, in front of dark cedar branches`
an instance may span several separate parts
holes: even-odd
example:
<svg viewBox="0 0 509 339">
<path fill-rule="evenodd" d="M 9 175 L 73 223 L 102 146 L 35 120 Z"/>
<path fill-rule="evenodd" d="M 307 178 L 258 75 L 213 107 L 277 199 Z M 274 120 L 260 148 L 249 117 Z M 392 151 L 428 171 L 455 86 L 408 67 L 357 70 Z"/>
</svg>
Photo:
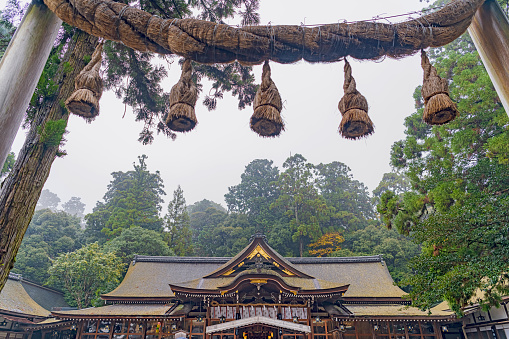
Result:
<svg viewBox="0 0 509 339">
<path fill-rule="evenodd" d="M 175 132 L 189 132 L 198 123 L 194 112 L 198 90 L 192 80 L 192 75 L 191 60 L 185 59 L 182 64 L 180 80 L 170 92 L 170 113 L 166 118 L 166 125 Z"/>
</svg>

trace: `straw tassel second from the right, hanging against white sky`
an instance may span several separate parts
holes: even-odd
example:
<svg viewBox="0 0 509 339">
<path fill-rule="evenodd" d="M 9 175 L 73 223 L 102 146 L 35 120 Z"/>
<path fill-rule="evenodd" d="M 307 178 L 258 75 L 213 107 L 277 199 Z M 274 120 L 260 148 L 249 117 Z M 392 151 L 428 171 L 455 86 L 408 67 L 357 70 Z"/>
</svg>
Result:
<svg viewBox="0 0 509 339">
<path fill-rule="evenodd" d="M 339 101 L 339 111 L 343 115 L 339 125 L 339 134 L 347 139 L 359 139 L 373 133 L 373 122 L 368 116 L 368 102 L 357 91 L 357 84 L 352 77 L 352 67 L 345 59 L 345 95 Z"/>
</svg>

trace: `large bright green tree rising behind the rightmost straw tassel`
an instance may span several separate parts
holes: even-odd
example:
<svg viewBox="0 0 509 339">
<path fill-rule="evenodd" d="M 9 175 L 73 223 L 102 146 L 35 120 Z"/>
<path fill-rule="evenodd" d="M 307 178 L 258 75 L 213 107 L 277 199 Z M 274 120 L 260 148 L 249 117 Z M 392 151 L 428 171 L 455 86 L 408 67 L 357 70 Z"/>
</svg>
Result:
<svg viewBox="0 0 509 339">
<path fill-rule="evenodd" d="M 498 305 L 509 293 L 509 119 L 467 35 L 429 55 L 450 80 L 460 116 L 427 126 L 416 90 L 407 137 L 391 152 L 413 190 L 387 191 L 377 208 L 387 225 L 424 246 L 406 280 L 414 305 L 445 299 L 461 313 L 470 302 Z"/>
</svg>

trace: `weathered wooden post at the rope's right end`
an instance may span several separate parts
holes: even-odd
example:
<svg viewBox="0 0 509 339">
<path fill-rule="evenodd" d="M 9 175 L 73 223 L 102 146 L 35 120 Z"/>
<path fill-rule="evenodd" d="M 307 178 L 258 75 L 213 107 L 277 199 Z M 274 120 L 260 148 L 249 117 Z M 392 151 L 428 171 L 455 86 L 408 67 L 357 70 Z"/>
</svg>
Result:
<svg viewBox="0 0 509 339">
<path fill-rule="evenodd" d="M 468 33 L 509 115 L 509 21 L 496 0 L 479 8 Z"/>
</svg>

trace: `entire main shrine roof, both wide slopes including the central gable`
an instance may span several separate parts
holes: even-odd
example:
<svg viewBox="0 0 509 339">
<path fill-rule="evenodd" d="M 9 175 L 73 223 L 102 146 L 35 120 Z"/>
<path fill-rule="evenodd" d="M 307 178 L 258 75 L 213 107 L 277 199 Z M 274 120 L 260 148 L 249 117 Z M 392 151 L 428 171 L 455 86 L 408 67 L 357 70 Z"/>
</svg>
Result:
<svg viewBox="0 0 509 339">
<path fill-rule="evenodd" d="M 346 299 L 385 301 L 396 301 L 405 294 L 394 285 L 381 256 L 284 258 L 257 234 L 233 258 L 135 256 L 122 283 L 102 297 L 112 301 L 171 301 L 175 294 L 170 286 L 177 293 L 224 294 L 257 278 L 267 278 L 290 293 L 343 293 L 348 288 Z"/>
</svg>

